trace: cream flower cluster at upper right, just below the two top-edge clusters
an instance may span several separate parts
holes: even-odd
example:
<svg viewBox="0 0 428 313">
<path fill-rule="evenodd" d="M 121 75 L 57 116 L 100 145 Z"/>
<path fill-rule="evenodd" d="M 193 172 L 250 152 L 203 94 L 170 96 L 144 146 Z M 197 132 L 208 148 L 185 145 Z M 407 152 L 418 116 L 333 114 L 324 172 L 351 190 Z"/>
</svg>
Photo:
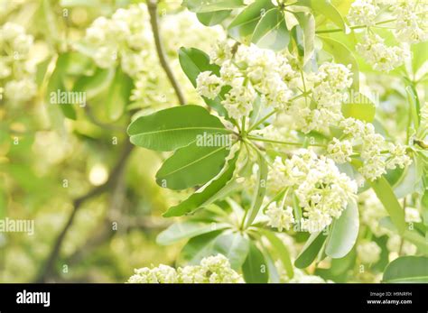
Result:
<svg viewBox="0 0 428 313">
<path fill-rule="evenodd" d="M 370 32 L 358 42 L 356 49 L 373 69 L 389 72 L 409 58 L 409 52 L 401 47 L 388 47 L 384 39 Z"/>
</svg>

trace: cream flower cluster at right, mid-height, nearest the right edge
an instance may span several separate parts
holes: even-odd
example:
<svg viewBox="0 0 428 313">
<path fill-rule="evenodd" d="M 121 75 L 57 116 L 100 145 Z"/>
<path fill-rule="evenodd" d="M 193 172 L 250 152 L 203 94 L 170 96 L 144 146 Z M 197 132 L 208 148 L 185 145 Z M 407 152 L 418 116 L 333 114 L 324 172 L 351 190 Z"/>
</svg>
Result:
<svg viewBox="0 0 428 313">
<path fill-rule="evenodd" d="M 358 152 L 363 165 L 359 172 L 367 180 L 376 180 L 385 174 L 386 170 L 394 170 L 397 166 L 404 168 L 411 163 L 405 146 L 386 143 L 385 138 L 375 132 L 373 124 L 350 117 L 342 120 L 340 127 L 343 129 L 344 141 L 340 143 L 333 139 L 328 148 L 330 157 L 338 162 L 347 161 L 352 152 L 350 147 L 360 145 Z"/>
</svg>

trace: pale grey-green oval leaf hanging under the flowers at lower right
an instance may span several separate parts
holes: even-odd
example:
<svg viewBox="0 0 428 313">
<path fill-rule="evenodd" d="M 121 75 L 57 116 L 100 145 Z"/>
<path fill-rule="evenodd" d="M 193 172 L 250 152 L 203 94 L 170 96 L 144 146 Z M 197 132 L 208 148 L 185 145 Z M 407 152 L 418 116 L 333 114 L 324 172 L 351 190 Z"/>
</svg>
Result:
<svg viewBox="0 0 428 313">
<path fill-rule="evenodd" d="M 355 203 L 349 203 L 340 217 L 333 222 L 325 253 L 333 259 L 347 255 L 357 241 L 358 229 L 358 207 Z"/>
</svg>

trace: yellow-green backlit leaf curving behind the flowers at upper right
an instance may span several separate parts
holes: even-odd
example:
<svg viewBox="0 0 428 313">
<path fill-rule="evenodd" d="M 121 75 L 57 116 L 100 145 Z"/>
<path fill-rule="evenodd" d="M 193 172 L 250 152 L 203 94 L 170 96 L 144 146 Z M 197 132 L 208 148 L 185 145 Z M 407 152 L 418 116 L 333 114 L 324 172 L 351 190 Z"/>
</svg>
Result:
<svg viewBox="0 0 428 313">
<path fill-rule="evenodd" d="M 341 63 L 345 66 L 348 66 L 349 64 L 352 65 L 351 70 L 354 74 L 352 77 L 352 87 L 354 90 L 358 91 L 359 90 L 359 67 L 358 67 L 358 62 L 355 59 L 352 52 L 349 51 L 349 49 L 339 41 L 335 41 L 327 37 L 321 37 L 321 36 L 318 36 L 318 37 L 321 38 L 323 42 L 322 48 L 325 51 L 329 52 L 337 63 Z"/>
</svg>

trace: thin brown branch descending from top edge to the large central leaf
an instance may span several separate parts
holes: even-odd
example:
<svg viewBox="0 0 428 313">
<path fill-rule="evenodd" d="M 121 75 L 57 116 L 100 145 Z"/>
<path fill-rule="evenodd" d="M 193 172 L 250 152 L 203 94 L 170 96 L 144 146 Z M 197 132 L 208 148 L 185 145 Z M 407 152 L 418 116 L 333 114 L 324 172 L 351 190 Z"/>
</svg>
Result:
<svg viewBox="0 0 428 313">
<path fill-rule="evenodd" d="M 168 64 L 168 61 L 165 56 L 165 52 L 163 50 L 163 44 L 161 41 L 161 34 L 159 32 L 159 26 L 158 26 L 159 23 L 157 18 L 157 0 L 148 0 L 147 8 L 150 14 L 150 23 L 152 25 L 152 31 L 154 33 L 154 44 L 156 46 L 157 55 L 159 57 L 163 70 L 166 73 L 166 76 L 168 77 L 172 87 L 174 88 L 175 94 L 177 95 L 180 105 L 184 106 L 186 104 L 186 100 L 184 98 L 184 95 L 181 91 L 181 87 L 177 79 L 174 77 L 174 74 L 172 73 L 172 69 Z"/>
</svg>

